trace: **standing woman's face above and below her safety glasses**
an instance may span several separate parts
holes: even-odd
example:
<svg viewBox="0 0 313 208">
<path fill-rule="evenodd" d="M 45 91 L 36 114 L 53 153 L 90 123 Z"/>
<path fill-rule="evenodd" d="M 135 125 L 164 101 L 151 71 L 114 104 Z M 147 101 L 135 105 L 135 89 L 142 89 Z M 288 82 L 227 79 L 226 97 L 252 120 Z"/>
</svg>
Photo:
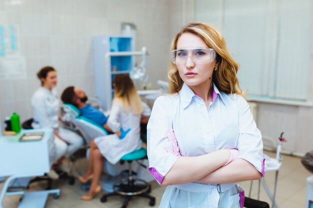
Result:
<svg viewBox="0 0 313 208">
<path fill-rule="evenodd" d="M 183 33 L 177 41 L 177 49 L 181 48 L 208 48 L 208 45 L 197 35 L 192 33 Z M 212 74 L 217 66 L 216 60 L 209 63 L 196 64 L 190 57 L 187 57 L 186 63 L 176 65 L 179 76 L 189 87 L 210 86 Z"/>
</svg>

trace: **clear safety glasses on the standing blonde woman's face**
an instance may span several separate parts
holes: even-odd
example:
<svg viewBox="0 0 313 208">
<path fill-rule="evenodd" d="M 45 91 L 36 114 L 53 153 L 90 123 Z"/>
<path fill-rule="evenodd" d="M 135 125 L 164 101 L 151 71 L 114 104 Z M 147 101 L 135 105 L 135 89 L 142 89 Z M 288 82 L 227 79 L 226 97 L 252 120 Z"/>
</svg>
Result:
<svg viewBox="0 0 313 208">
<path fill-rule="evenodd" d="M 197 64 L 212 62 L 216 57 L 212 48 L 180 48 L 172 50 L 170 54 L 171 61 L 176 65 L 185 64 L 188 57 Z"/>
</svg>

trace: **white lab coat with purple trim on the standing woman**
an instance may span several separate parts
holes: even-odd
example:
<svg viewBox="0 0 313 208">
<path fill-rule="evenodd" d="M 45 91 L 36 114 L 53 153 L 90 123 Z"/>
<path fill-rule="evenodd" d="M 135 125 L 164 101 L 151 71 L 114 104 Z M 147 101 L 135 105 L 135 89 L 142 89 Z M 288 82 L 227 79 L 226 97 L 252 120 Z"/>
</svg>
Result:
<svg viewBox="0 0 313 208">
<path fill-rule="evenodd" d="M 147 125 L 149 171 L 158 183 L 177 157 L 164 150 L 173 128 L 181 156 L 204 155 L 219 149 L 238 149 L 239 158 L 263 173 L 262 140 L 247 102 L 237 94 L 219 92 L 213 85 L 209 108 L 183 84 L 180 92 L 154 102 Z M 183 170 L 181 170 L 183 171 Z M 219 189 L 219 192 L 218 192 Z M 239 208 L 244 194 L 236 184 L 188 183 L 167 186 L 159 208 Z"/>
</svg>

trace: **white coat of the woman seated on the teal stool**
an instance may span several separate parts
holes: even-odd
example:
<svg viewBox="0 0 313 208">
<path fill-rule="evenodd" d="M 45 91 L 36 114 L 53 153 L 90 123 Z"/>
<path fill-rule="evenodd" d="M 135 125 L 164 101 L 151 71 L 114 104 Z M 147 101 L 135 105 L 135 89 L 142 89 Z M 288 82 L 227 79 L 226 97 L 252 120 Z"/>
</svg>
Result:
<svg viewBox="0 0 313 208">
<path fill-rule="evenodd" d="M 141 115 L 149 116 L 150 108 L 142 102 L 143 112 Z M 140 149 L 142 141 L 140 139 L 140 118 L 141 115 L 134 115 L 129 108 L 128 114 L 123 107 L 113 104 L 107 120 L 107 125 L 113 132 L 122 128 L 124 131 L 130 129 L 123 139 L 119 139 L 116 134 L 97 137 L 94 139 L 103 157 L 111 164 L 116 164 L 121 157 Z"/>
</svg>

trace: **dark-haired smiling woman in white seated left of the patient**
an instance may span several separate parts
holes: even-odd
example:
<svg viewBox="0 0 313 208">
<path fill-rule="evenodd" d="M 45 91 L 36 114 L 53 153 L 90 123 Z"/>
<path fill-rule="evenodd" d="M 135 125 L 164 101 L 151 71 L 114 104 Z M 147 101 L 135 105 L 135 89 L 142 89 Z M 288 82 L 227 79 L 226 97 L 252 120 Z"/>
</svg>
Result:
<svg viewBox="0 0 313 208">
<path fill-rule="evenodd" d="M 51 66 L 40 69 L 37 77 L 41 86 L 31 97 L 33 122 L 35 128 L 52 128 L 54 130 L 55 162 L 62 156 L 68 157 L 83 144 L 82 138 L 76 133 L 59 127 L 60 102 L 54 87 L 57 78 L 56 71 Z"/>
</svg>

